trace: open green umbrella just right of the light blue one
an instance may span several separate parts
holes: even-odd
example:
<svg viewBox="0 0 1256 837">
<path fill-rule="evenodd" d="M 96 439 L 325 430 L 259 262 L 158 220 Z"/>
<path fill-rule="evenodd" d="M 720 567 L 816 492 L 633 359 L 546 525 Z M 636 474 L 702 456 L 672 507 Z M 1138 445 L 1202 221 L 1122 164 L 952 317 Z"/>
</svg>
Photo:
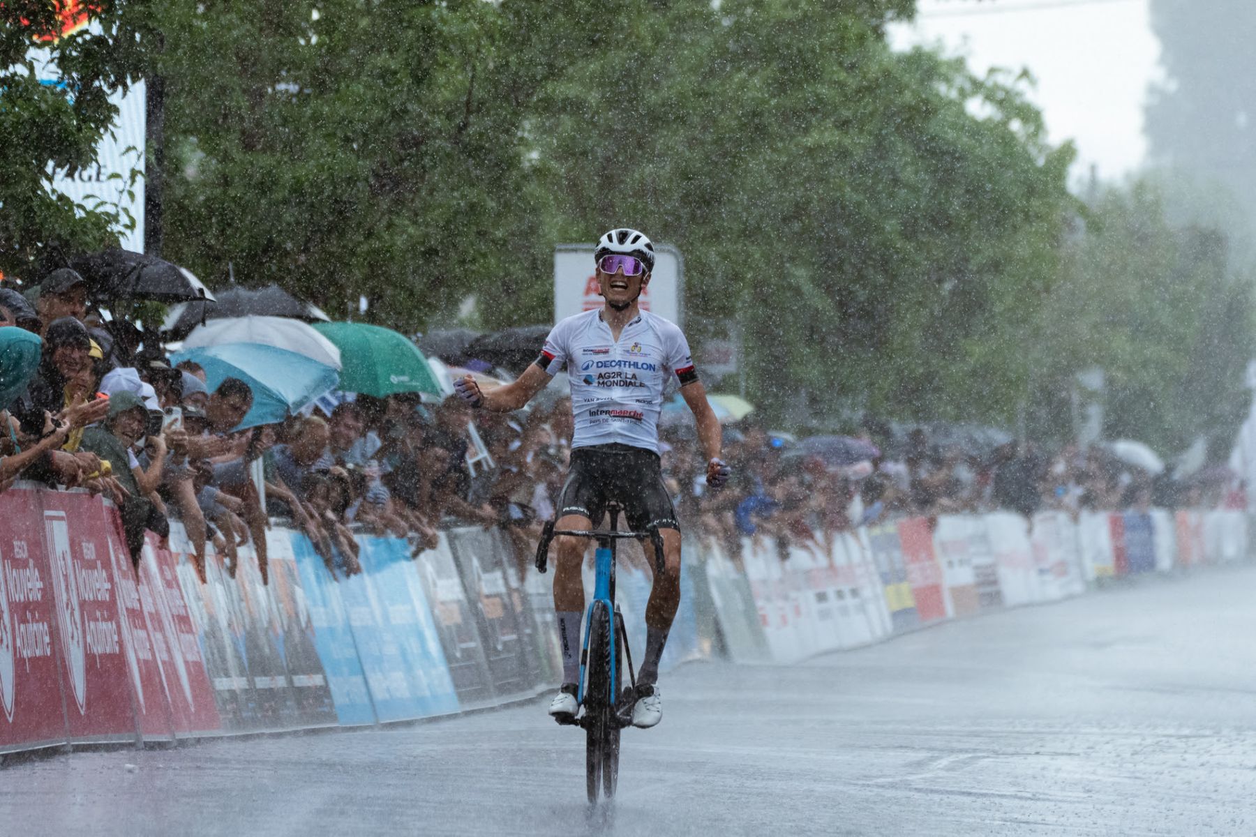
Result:
<svg viewBox="0 0 1256 837">
<path fill-rule="evenodd" d="M 394 393 L 441 395 L 423 353 L 404 335 L 365 323 L 314 323 L 340 350 L 340 389 L 384 398 Z"/>
</svg>

